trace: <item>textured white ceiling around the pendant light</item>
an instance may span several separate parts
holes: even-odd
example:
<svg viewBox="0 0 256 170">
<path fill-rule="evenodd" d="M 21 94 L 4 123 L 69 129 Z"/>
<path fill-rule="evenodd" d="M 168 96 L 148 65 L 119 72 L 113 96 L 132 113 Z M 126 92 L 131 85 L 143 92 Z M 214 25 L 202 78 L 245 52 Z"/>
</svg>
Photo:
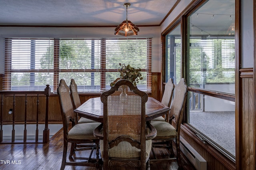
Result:
<svg viewBox="0 0 256 170">
<path fill-rule="evenodd" d="M 176 0 L 0 0 L 0 25 L 159 25 Z"/>
</svg>

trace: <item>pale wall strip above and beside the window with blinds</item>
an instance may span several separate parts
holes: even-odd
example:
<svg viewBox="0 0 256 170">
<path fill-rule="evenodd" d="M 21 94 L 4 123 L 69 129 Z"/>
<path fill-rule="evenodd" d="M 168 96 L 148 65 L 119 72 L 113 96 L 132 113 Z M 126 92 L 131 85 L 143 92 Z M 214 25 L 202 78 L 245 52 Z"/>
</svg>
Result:
<svg viewBox="0 0 256 170">
<path fill-rule="evenodd" d="M 114 35 L 114 27 L 0 27 L 0 74 L 4 74 L 4 38 L 50 37 L 50 38 L 123 38 Z M 139 27 L 138 36 L 152 37 L 152 72 L 160 72 L 160 27 Z"/>
</svg>

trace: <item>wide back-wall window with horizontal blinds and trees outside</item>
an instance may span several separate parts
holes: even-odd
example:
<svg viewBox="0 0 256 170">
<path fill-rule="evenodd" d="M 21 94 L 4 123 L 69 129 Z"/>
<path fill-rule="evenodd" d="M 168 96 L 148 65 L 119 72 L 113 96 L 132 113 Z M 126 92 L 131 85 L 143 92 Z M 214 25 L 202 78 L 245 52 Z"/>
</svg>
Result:
<svg viewBox="0 0 256 170">
<path fill-rule="evenodd" d="M 6 39 L 4 90 L 54 92 L 74 78 L 80 92 L 101 92 L 119 77 L 121 64 L 141 68 L 138 88 L 151 90 L 151 38 Z"/>
</svg>

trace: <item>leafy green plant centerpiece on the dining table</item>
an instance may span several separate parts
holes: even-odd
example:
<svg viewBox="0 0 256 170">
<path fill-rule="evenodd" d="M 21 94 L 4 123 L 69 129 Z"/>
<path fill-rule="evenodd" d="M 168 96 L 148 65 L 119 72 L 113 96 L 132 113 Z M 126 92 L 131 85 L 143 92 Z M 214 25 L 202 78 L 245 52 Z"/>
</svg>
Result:
<svg viewBox="0 0 256 170">
<path fill-rule="evenodd" d="M 137 83 L 140 80 L 143 80 L 143 77 L 141 76 L 141 69 L 140 68 L 133 68 L 128 64 L 127 66 L 125 64 L 119 63 L 121 68 L 118 68 L 118 72 L 120 72 L 120 78 L 117 78 L 114 82 L 112 82 L 110 85 L 114 86 L 116 84 L 117 80 L 120 79 L 126 79 L 133 83 L 134 86 L 137 86 Z"/>
</svg>

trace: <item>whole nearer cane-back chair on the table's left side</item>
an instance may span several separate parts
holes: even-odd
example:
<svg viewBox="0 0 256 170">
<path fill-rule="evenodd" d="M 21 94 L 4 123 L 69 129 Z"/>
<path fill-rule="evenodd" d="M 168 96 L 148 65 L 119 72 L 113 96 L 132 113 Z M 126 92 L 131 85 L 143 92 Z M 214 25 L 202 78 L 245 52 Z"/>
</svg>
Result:
<svg viewBox="0 0 256 170">
<path fill-rule="evenodd" d="M 100 123 L 75 123 L 75 114 L 73 110 L 72 101 L 70 98 L 69 88 L 66 82 L 62 79 L 57 88 L 57 93 L 60 102 L 62 123 L 63 123 L 63 156 L 61 170 L 65 168 L 66 165 L 72 166 L 96 166 L 99 168 L 99 140 L 94 137 L 94 129 L 100 125 Z M 70 129 L 70 123 L 72 123 Z M 73 161 L 66 161 L 68 143 L 71 143 L 69 159 Z M 74 151 L 76 150 L 76 143 L 95 143 L 96 144 L 96 160 L 91 159 L 94 145 L 88 145 L 87 150 L 91 150 L 90 156 L 85 162 L 75 162 L 72 158 Z M 85 147 L 85 145 L 83 147 Z M 84 148 L 83 148 L 84 150 Z"/>
</svg>

